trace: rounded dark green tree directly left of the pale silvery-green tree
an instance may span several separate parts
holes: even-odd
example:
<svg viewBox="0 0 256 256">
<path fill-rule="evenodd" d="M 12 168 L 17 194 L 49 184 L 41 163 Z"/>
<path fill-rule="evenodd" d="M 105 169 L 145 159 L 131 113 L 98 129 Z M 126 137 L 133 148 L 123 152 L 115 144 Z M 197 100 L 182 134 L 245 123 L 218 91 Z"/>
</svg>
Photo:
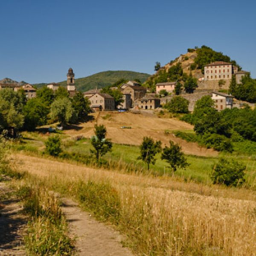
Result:
<svg viewBox="0 0 256 256">
<path fill-rule="evenodd" d="M 47 123 L 49 108 L 41 102 L 40 98 L 29 99 L 23 108 L 25 122 L 23 128 L 28 131 L 34 131 L 37 126 Z"/>
</svg>

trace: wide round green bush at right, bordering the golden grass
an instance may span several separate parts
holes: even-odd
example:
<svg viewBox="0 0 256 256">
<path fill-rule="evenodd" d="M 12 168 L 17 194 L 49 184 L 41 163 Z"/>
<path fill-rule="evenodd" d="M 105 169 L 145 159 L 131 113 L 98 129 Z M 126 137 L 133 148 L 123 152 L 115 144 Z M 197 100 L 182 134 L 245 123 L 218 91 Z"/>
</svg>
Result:
<svg viewBox="0 0 256 256">
<path fill-rule="evenodd" d="M 213 167 L 211 179 L 213 184 L 225 184 L 227 186 L 238 186 L 244 183 L 244 170 L 246 167 L 235 160 L 221 159 Z"/>
</svg>

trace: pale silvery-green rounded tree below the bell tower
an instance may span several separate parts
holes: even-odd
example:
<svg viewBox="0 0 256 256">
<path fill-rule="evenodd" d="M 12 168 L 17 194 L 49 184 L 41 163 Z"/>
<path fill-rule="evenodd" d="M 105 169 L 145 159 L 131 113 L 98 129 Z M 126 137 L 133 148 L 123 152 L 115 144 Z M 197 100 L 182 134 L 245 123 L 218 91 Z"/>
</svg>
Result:
<svg viewBox="0 0 256 256">
<path fill-rule="evenodd" d="M 50 116 L 53 120 L 58 120 L 63 127 L 67 123 L 77 121 L 77 113 L 68 98 L 55 100 L 51 105 Z"/>
</svg>

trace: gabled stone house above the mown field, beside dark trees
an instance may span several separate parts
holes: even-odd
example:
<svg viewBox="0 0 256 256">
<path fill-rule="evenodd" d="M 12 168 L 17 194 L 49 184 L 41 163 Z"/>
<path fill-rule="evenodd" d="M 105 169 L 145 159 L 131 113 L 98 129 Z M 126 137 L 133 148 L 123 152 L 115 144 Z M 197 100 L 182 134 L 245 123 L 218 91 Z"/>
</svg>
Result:
<svg viewBox="0 0 256 256">
<path fill-rule="evenodd" d="M 107 93 L 95 93 L 89 98 L 89 100 L 91 103 L 91 109 L 101 109 L 103 111 L 115 109 L 114 98 Z"/>
</svg>

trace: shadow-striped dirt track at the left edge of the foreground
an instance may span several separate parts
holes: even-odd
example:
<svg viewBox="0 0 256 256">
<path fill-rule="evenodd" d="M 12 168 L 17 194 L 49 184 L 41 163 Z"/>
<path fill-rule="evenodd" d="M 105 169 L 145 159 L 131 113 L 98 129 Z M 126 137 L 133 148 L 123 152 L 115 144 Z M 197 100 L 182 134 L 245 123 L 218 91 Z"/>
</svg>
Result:
<svg viewBox="0 0 256 256">
<path fill-rule="evenodd" d="M 22 246 L 22 233 L 26 227 L 26 217 L 17 198 L 7 195 L 9 186 L 0 182 L 0 255 L 26 255 Z"/>
</svg>

